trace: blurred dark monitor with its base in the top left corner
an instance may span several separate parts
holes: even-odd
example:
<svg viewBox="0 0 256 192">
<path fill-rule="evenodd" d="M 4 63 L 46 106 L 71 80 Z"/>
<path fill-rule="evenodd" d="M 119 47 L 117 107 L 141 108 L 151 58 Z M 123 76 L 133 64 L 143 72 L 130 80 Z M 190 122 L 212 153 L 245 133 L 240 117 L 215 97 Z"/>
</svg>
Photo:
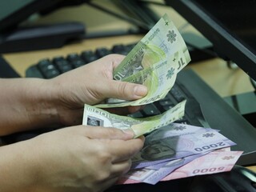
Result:
<svg viewBox="0 0 256 192">
<path fill-rule="evenodd" d="M 62 6 L 76 6 L 84 2 L 87 0 L 1 0 L 0 53 L 56 48 L 83 38 L 86 30 L 80 22 L 41 26 L 20 24 L 32 14 L 45 15 Z"/>
</svg>

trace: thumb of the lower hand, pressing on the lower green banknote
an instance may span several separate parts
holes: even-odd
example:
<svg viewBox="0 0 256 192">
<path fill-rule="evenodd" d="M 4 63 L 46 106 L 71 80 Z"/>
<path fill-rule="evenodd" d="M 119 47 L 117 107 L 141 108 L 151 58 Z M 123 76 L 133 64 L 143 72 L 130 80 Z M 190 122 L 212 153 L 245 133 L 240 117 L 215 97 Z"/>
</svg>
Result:
<svg viewBox="0 0 256 192">
<path fill-rule="evenodd" d="M 129 140 L 134 138 L 134 131 L 131 129 L 119 130 L 112 127 L 102 126 L 82 126 L 87 138 L 106 138 L 106 139 L 122 139 Z"/>
</svg>

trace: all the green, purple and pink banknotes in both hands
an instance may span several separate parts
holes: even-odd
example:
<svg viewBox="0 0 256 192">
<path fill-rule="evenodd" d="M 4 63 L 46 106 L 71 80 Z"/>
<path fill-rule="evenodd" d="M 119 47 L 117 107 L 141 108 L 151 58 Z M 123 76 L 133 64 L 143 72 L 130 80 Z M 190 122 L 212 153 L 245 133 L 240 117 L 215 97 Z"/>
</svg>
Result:
<svg viewBox="0 0 256 192">
<path fill-rule="evenodd" d="M 146 135 L 143 149 L 132 159 L 129 173 L 118 184 L 155 184 L 174 178 L 229 171 L 242 151 L 230 151 L 235 143 L 218 130 L 174 123 L 183 117 L 186 100 L 163 114 L 130 118 L 102 108 L 139 106 L 166 97 L 190 54 L 174 23 L 165 14 L 114 70 L 118 81 L 143 84 L 148 94 L 136 101 L 109 98 L 105 103 L 85 104 L 83 125 L 133 130 L 134 138 Z"/>
</svg>

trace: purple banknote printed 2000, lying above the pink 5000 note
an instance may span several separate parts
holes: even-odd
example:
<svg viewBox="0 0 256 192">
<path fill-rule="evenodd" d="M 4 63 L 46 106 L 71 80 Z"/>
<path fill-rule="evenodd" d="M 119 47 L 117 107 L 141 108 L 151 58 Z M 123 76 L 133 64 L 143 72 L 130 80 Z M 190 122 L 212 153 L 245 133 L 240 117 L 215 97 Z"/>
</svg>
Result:
<svg viewBox="0 0 256 192">
<path fill-rule="evenodd" d="M 132 168 L 152 166 L 160 162 L 235 145 L 230 139 L 211 129 L 174 136 L 165 134 L 166 130 L 164 129 L 156 131 L 159 132 L 159 135 L 162 134 L 162 137 L 154 138 L 154 136 L 150 137 L 150 134 L 146 136 L 142 150 L 132 158 Z"/>
</svg>

